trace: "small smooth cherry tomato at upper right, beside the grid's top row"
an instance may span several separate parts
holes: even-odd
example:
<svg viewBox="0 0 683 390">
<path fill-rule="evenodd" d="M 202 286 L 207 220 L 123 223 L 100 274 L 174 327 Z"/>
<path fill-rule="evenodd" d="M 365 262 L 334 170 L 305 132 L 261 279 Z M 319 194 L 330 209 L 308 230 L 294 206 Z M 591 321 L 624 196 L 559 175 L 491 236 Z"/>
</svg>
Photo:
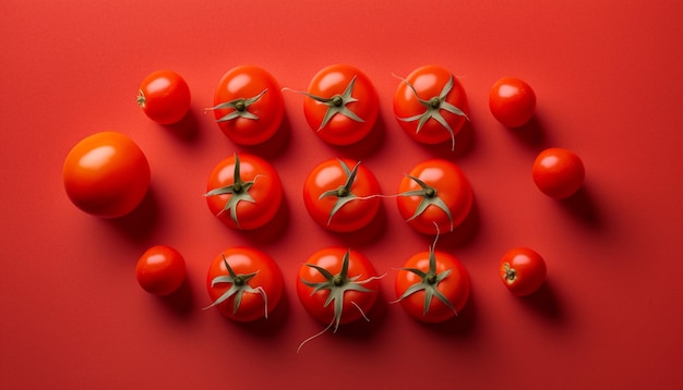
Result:
<svg viewBox="0 0 683 390">
<path fill-rule="evenodd" d="M 534 117 L 536 94 L 525 81 L 503 77 L 491 87 L 489 108 L 503 125 L 519 127 Z"/>
</svg>

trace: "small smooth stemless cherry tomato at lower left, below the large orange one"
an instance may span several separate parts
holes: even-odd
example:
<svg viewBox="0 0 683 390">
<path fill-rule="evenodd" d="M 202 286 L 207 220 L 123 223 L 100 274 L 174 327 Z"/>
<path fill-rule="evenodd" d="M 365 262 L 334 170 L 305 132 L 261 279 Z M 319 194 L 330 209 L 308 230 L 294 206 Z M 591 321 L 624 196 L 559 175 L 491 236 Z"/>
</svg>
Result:
<svg viewBox="0 0 683 390">
<path fill-rule="evenodd" d="M 152 246 L 140 256 L 135 277 L 149 294 L 168 295 L 178 290 L 185 280 L 185 260 L 170 246 Z"/>
</svg>

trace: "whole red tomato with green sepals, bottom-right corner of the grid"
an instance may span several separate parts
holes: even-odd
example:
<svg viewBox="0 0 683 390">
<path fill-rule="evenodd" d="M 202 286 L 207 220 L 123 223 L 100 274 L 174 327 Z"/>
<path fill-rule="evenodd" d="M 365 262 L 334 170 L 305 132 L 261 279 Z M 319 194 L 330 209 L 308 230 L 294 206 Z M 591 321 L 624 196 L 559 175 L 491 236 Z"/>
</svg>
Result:
<svg viewBox="0 0 683 390">
<path fill-rule="evenodd" d="M 403 308 L 424 322 L 443 322 L 465 307 L 470 281 L 463 264 L 453 255 L 420 252 L 396 275 L 396 296 Z"/>
</svg>

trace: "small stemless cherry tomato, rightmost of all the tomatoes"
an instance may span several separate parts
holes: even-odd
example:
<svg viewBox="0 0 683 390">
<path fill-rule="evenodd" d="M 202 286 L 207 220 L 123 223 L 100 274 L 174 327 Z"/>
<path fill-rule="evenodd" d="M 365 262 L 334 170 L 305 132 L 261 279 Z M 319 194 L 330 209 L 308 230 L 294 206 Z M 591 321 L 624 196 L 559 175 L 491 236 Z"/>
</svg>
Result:
<svg viewBox="0 0 683 390">
<path fill-rule="evenodd" d="M 534 161 L 531 176 L 536 186 L 546 195 L 564 199 L 574 195 L 584 184 L 584 162 L 571 150 L 549 148 Z"/>
</svg>

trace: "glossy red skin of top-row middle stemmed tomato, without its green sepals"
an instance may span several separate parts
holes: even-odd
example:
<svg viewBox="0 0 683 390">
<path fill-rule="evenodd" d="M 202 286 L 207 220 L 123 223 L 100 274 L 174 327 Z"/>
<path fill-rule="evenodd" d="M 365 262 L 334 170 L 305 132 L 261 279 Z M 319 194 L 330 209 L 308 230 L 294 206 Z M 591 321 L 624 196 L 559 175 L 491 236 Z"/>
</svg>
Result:
<svg viewBox="0 0 683 390">
<path fill-rule="evenodd" d="M 303 114 L 311 129 L 332 145 L 351 145 L 364 138 L 374 127 L 380 113 L 378 92 L 370 77 L 359 69 L 348 64 L 328 65 L 319 71 L 309 83 L 307 93 L 310 95 L 332 98 L 344 94 L 351 80 L 356 77 L 352 98 L 346 105 L 362 122 L 342 113 L 335 114 L 329 122 L 321 127 L 328 106 L 312 98 L 303 101 Z"/>
</svg>

